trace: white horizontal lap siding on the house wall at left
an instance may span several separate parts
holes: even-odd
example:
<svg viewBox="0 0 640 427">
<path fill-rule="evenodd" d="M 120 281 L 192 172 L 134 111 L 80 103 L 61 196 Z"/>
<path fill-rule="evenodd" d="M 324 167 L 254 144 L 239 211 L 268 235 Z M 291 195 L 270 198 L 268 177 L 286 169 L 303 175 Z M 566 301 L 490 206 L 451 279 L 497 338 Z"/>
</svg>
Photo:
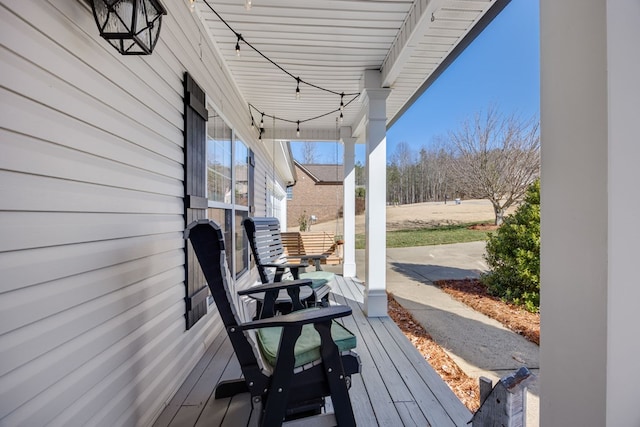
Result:
<svg viewBox="0 0 640 427">
<path fill-rule="evenodd" d="M 268 153 L 166 6 L 154 54 L 123 57 L 84 1 L 0 1 L 0 425 L 149 425 L 222 333 L 185 331 L 184 72 L 256 151 L 262 213 Z"/>
</svg>

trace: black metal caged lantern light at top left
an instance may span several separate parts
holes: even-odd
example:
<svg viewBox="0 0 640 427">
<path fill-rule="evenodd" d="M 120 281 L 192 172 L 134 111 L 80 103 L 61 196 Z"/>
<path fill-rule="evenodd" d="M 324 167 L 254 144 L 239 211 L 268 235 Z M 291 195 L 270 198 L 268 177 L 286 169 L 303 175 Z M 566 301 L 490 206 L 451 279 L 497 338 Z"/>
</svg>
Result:
<svg viewBox="0 0 640 427">
<path fill-rule="evenodd" d="M 149 55 L 158 37 L 162 15 L 160 0 L 91 0 L 100 36 L 122 55 Z"/>
</svg>

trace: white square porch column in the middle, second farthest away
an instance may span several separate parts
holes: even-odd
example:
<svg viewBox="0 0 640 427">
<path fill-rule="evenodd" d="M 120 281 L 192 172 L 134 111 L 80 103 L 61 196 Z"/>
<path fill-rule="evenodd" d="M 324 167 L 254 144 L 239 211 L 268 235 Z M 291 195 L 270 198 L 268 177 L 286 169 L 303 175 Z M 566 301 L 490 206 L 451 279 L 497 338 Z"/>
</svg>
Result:
<svg viewBox="0 0 640 427">
<path fill-rule="evenodd" d="M 364 73 L 361 92 L 367 145 L 364 307 L 367 316 L 387 315 L 387 106 L 390 89 L 377 70 Z"/>
</svg>

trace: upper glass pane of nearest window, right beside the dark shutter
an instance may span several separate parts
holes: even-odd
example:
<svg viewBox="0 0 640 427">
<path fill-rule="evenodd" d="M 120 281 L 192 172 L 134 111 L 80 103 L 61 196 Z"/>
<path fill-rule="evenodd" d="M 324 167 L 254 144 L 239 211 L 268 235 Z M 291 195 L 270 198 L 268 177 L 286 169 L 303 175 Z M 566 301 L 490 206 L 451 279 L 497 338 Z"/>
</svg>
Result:
<svg viewBox="0 0 640 427">
<path fill-rule="evenodd" d="M 231 128 L 220 116 L 207 124 L 207 197 L 231 203 Z"/>
</svg>

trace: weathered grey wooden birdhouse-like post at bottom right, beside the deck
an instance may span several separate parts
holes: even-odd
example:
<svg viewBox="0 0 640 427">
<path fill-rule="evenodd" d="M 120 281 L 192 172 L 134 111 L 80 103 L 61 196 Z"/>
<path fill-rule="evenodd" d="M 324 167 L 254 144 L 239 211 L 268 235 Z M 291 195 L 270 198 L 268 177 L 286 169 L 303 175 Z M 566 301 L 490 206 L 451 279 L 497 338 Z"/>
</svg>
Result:
<svg viewBox="0 0 640 427">
<path fill-rule="evenodd" d="M 473 427 L 525 427 L 527 424 L 527 385 L 535 379 L 526 367 L 492 382 L 480 378 L 480 409 L 471 419 Z"/>
</svg>

